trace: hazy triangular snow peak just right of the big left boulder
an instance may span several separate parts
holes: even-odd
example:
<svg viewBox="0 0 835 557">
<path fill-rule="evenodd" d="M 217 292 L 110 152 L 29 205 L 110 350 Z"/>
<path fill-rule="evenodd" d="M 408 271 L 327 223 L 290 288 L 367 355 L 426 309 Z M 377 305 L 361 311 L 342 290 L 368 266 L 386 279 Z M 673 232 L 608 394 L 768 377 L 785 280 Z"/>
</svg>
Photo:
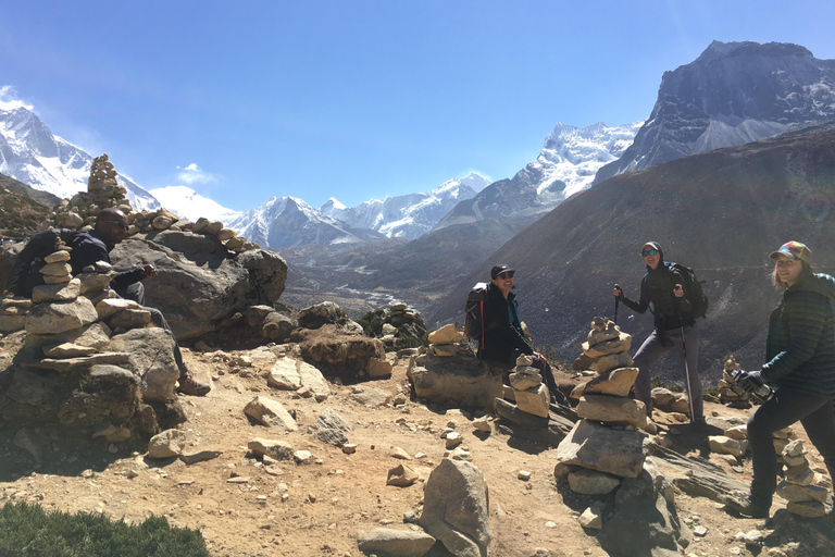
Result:
<svg viewBox="0 0 835 557">
<path fill-rule="evenodd" d="M 272 197 L 258 209 L 245 211 L 227 224 L 239 235 L 264 247 L 292 248 L 308 244 L 346 244 L 379 239 L 370 230 L 354 230 L 324 215 L 296 197 Z"/>
</svg>

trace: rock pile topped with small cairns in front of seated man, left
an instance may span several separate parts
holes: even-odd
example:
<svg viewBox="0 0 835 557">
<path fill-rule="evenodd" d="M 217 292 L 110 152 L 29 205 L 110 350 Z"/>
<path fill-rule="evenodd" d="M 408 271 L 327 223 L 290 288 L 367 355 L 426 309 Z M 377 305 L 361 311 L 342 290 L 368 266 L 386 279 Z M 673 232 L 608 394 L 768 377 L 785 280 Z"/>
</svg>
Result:
<svg viewBox="0 0 835 557">
<path fill-rule="evenodd" d="M 94 437 L 111 443 L 134 433 L 154 433 L 155 419 L 149 419 L 153 410 L 141 401 L 165 405 L 174 394 L 178 377 L 174 341 L 159 327 L 132 336 L 135 330 L 152 326 L 151 313 L 109 288 L 116 275 L 109 263 L 99 261 L 72 277 L 68 259 L 66 248 L 47 258 L 51 262 L 45 274 L 52 284 L 33 290 L 21 352 L 25 356 L 12 381 L 18 385 L 13 389 L 17 394 L 8 396 L 23 408 L 37 409 L 28 410 L 33 423 L 57 419 L 67 426 L 91 425 Z M 64 265 L 63 274 L 51 265 Z M 148 349 L 153 352 L 151 363 L 135 363 L 134 358 Z M 57 375 L 46 383 L 49 388 L 33 391 L 25 386 L 36 376 L 28 370 Z"/>
</svg>

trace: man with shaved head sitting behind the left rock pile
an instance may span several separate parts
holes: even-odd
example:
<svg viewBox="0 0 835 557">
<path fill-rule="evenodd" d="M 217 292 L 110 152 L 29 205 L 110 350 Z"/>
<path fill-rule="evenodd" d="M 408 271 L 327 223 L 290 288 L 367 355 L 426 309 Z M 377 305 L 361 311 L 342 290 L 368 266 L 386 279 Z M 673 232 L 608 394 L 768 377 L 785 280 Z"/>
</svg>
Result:
<svg viewBox="0 0 835 557">
<path fill-rule="evenodd" d="M 91 265 L 97 261 L 107 261 L 110 263 L 110 252 L 116 247 L 116 244 L 125 239 L 127 235 L 127 216 L 115 208 L 102 209 L 96 218 L 96 227 L 89 235 L 80 236 L 72 246 L 70 253 L 70 264 L 73 268 L 73 275 L 78 275 L 84 268 Z M 171 331 L 167 321 L 162 312 L 154 308 L 145 306 L 145 286 L 140 282 L 142 278 L 153 278 L 157 276 L 157 270 L 153 265 L 137 267 L 127 271 L 122 271 L 111 282 L 111 287 L 121 297 L 132 299 L 142 306 L 142 309 L 151 313 L 151 321 L 157 326 Z M 211 389 L 208 383 L 200 383 L 191 375 L 188 367 L 183 361 L 183 354 L 179 346 L 174 344 L 174 360 L 179 368 L 178 393 L 184 395 L 203 396 Z"/>
</svg>

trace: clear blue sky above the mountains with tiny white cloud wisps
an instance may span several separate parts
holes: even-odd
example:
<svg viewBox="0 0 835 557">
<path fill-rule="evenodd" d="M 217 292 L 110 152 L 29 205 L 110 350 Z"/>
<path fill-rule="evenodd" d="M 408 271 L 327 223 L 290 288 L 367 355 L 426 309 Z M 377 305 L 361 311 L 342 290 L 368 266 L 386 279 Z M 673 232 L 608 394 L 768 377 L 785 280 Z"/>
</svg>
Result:
<svg viewBox="0 0 835 557">
<path fill-rule="evenodd" d="M 510 177 L 558 122 L 645 119 L 714 39 L 833 59 L 833 21 L 802 0 L 0 0 L 0 101 L 147 189 L 354 206 Z"/>
</svg>

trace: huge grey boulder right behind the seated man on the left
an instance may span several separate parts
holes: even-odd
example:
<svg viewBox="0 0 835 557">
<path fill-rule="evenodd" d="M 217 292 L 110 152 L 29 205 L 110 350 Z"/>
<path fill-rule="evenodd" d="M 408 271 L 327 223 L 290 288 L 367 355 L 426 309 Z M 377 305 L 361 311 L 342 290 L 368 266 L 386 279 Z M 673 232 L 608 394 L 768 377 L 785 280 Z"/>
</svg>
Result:
<svg viewBox="0 0 835 557">
<path fill-rule="evenodd" d="M 145 281 L 146 304 L 162 311 L 174 335 L 195 338 L 250 306 L 272 306 L 284 292 L 287 263 L 262 249 L 238 255 L 214 236 L 182 231 L 137 234 L 111 252 L 114 267 L 157 267 Z"/>
</svg>

